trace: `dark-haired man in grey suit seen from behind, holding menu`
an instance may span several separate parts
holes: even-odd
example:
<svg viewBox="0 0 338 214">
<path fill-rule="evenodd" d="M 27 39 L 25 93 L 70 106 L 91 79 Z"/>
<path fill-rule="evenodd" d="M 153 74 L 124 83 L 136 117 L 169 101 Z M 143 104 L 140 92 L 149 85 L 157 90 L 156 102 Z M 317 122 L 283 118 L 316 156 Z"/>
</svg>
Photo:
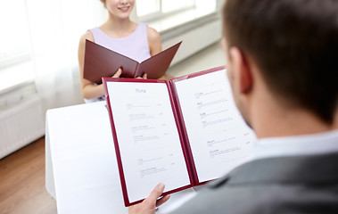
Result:
<svg viewBox="0 0 338 214">
<path fill-rule="evenodd" d="M 338 1 L 227 0 L 223 31 L 255 160 L 174 213 L 338 213 Z M 129 213 L 153 213 L 162 191 Z"/>
</svg>

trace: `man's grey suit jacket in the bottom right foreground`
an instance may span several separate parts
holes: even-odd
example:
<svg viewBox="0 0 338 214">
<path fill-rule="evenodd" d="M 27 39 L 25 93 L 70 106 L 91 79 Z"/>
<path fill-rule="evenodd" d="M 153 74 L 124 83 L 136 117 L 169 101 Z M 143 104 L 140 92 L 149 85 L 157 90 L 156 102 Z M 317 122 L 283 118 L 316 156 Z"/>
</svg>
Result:
<svg viewBox="0 0 338 214">
<path fill-rule="evenodd" d="M 248 162 L 173 213 L 337 214 L 338 153 Z"/>
</svg>

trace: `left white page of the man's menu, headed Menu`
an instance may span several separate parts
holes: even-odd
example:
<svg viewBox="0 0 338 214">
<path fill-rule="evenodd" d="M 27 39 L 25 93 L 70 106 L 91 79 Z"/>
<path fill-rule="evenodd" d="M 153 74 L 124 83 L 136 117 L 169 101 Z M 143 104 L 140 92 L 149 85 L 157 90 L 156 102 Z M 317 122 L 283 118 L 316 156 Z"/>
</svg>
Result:
<svg viewBox="0 0 338 214">
<path fill-rule="evenodd" d="M 107 82 L 129 202 L 190 185 L 165 83 Z"/>
</svg>

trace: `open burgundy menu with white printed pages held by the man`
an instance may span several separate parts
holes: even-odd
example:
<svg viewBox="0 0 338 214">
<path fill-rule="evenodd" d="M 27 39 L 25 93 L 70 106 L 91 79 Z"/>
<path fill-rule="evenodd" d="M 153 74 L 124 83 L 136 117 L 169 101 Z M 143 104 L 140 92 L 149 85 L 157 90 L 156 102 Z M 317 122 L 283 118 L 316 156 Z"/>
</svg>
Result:
<svg viewBox="0 0 338 214">
<path fill-rule="evenodd" d="M 174 193 L 249 161 L 255 136 L 224 67 L 167 80 L 103 78 L 126 206 L 155 185 Z"/>
</svg>

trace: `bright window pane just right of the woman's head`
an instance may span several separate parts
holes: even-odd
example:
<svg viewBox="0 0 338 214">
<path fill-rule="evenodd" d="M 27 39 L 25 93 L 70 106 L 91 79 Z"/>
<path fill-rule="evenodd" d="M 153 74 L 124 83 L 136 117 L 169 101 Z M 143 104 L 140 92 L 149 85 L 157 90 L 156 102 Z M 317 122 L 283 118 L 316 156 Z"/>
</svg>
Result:
<svg viewBox="0 0 338 214">
<path fill-rule="evenodd" d="M 137 16 L 142 21 L 149 21 L 194 8 L 195 0 L 140 0 L 136 1 Z"/>
</svg>

